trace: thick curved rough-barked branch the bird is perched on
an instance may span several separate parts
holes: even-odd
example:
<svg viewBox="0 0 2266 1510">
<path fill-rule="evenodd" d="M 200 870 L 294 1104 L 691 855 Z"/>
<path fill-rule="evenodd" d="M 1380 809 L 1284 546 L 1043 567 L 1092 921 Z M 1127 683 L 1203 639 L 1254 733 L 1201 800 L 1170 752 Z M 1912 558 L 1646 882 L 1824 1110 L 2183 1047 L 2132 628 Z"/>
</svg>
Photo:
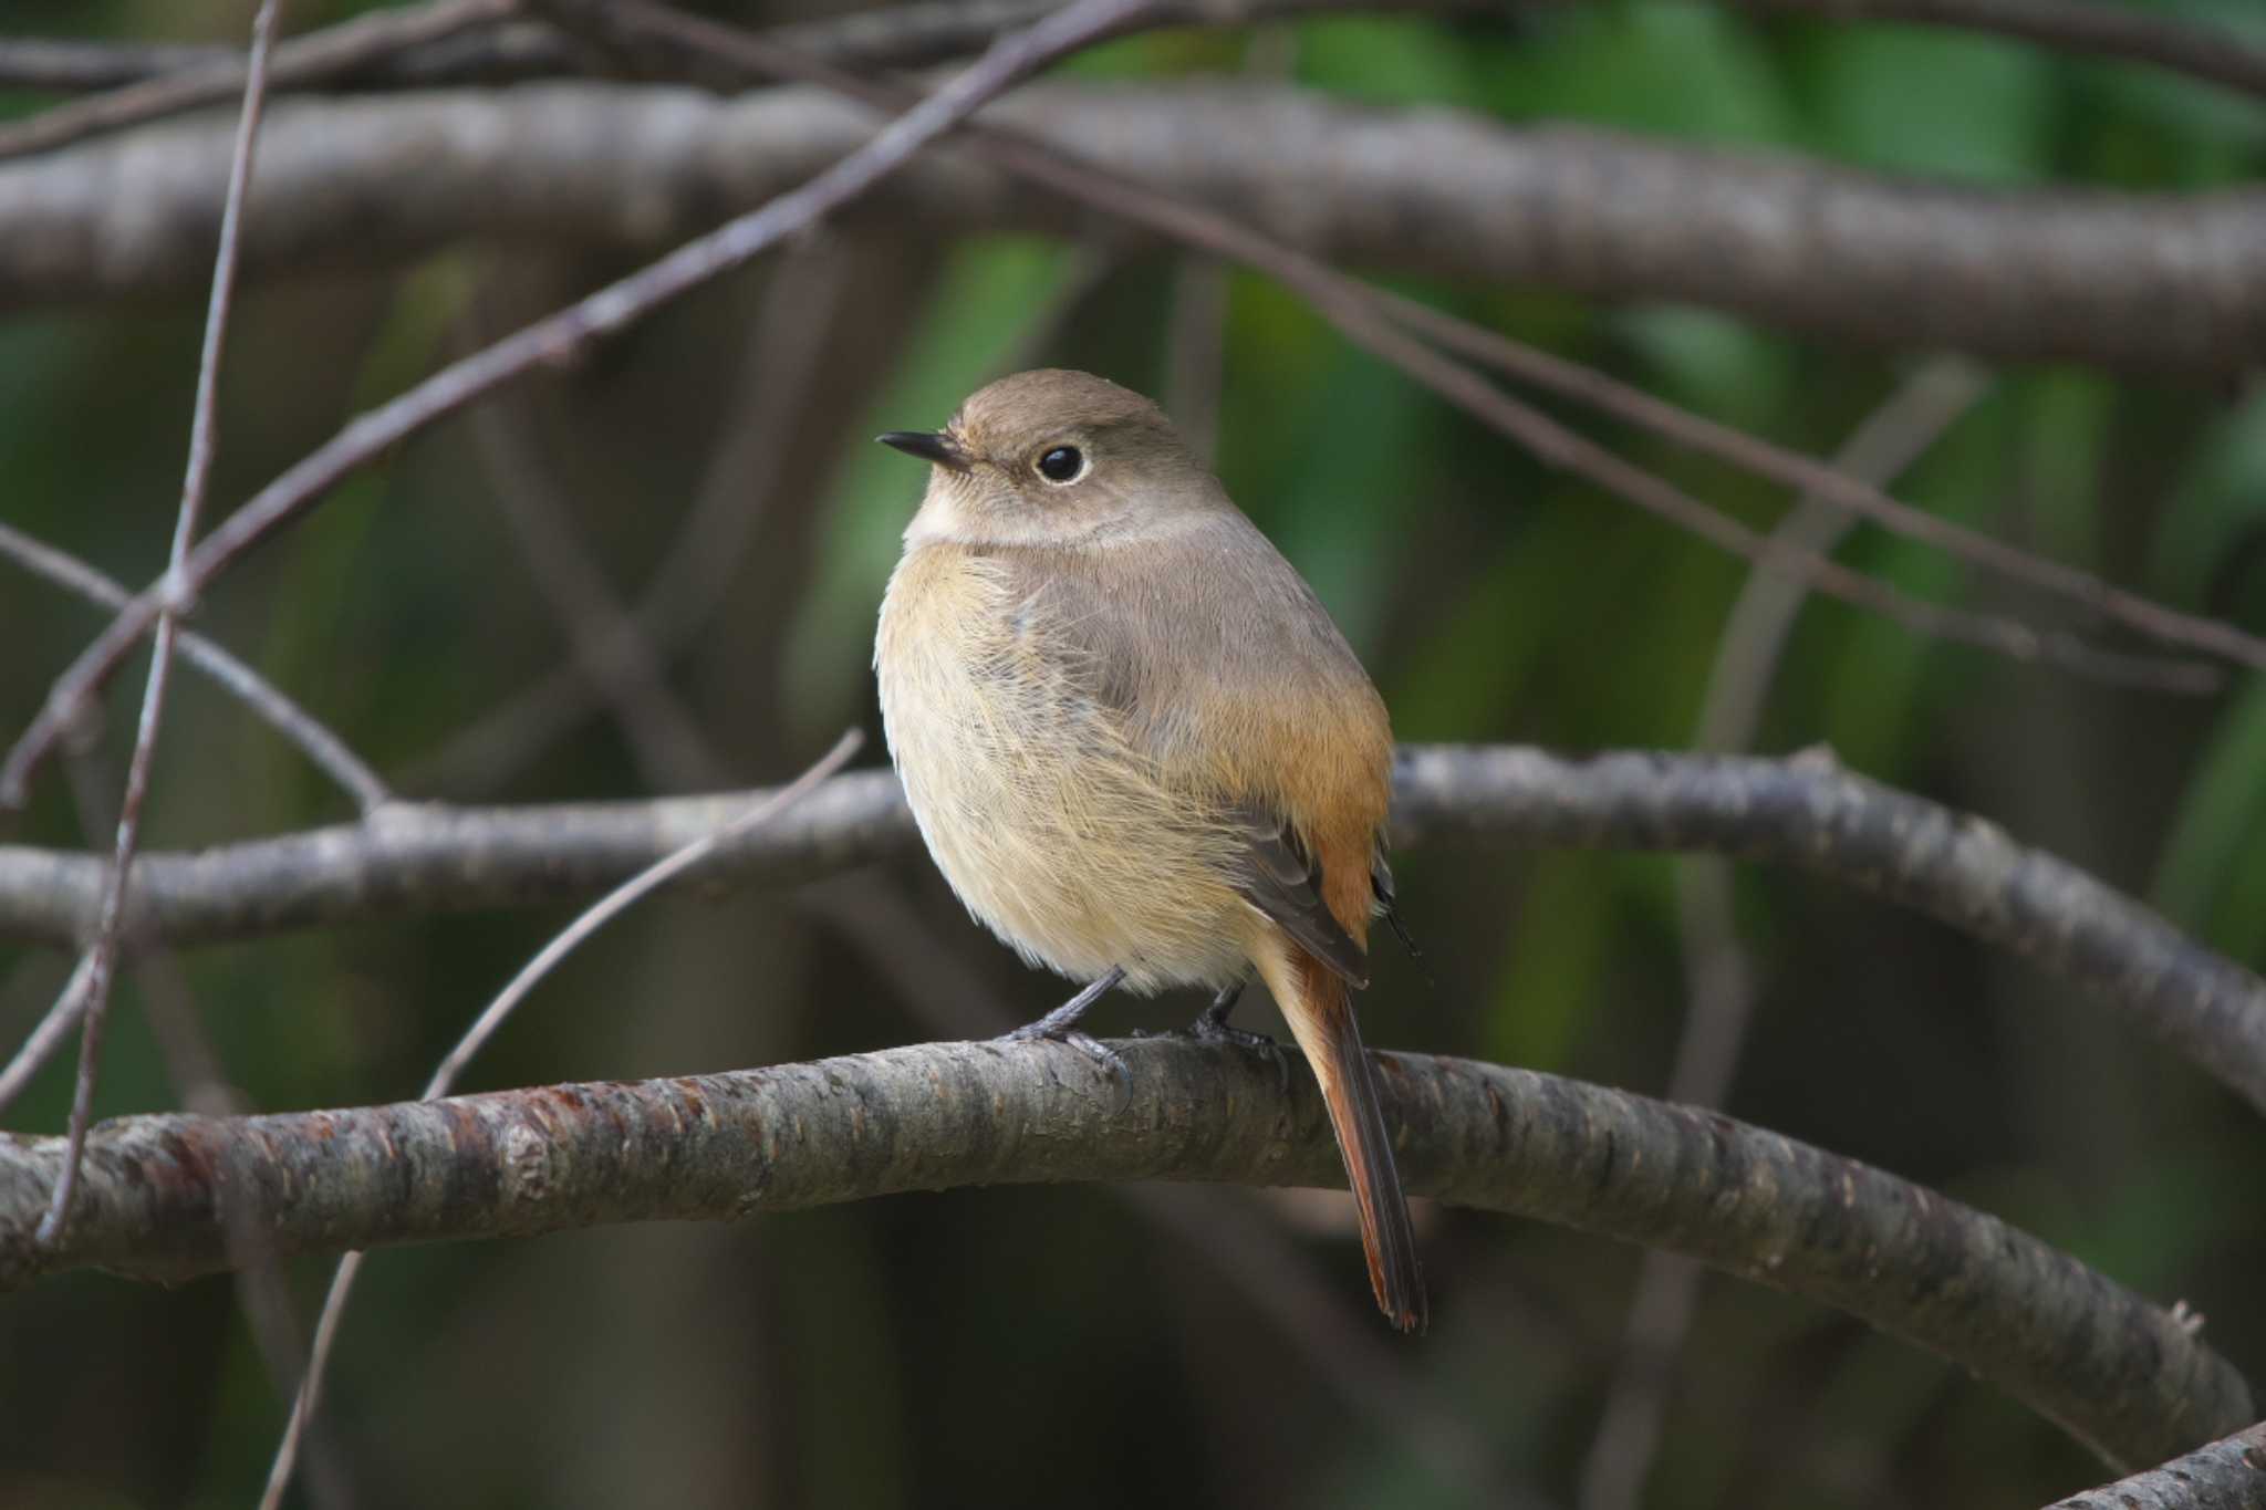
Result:
<svg viewBox="0 0 2266 1510">
<path fill-rule="evenodd" d="M 227 1263 L 215 1173 L 281 1252 L 721 1220 L 897 1191 L 1063 1179 L 1332 1184 L 1305 1075 L 1267 1053 L 925 1044 L 637 1084 L 256 1118 L 138 1116 L 86 1150 L 79 1220 L 29 1241 L 57 1139 L 0 1141 L 0 1284 Z M 1380 1055 L 1412 1191 L 1666 1245 L 1863 1315 L 1992 1379 L 2103 1456 L 2157 1462 L 2250 1419 L 2178 1318 L 2044 1243 L 1729 1118 L 1468 1059 Z"/>
</svg>

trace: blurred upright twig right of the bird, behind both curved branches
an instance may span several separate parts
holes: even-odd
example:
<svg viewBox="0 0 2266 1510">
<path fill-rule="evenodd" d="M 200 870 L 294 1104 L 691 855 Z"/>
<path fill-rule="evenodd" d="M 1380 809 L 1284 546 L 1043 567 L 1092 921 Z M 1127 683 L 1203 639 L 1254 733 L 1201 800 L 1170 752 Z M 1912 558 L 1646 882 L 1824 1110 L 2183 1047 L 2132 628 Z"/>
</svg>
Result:
<svg viewBox="0 0 2266 1510">
<path fill-rule="evenodd" d="M 1913 374 L 1874 410 L 1833 457 L 1838 475 L 1888 482 L 1913 464 L 1976 398 L 1987 380 L 1958 358 L 1940 358 Z M 1806 494 L 1779 521 L 1777 537 L 1797 537 L 1831 555 L 1856 527 L 1856 516 Z M 1804 591 L 1795 582 L 1752 573 L 1724 620 L 1722 645 L 1709 672 L 1697 747 L 1711 754 L 1747 749 L 1761 718 L 1763 693 L 1777 677 L 1779 652 L 1792 632 Z M 1731 917 L 1731 867 L 1724 860 L 1677 865 L 1677 926 L 1684 944 L 1684 1032 L 1668 1100 L 1718 1107 L 1747 1037 L 1754 971 Z M 1622 1329 L 1613 1383 L 1598 1415 L 1598 1435 L 1582 1460 L 1579 1510 L 1636 1510 L 1668 1413 L 1677 1352 L 1700 1295 L 1700 1268 L 1688 1259 L 1647 1252 L 1636 1270 L 1636 1295 Z"/>
</svg>

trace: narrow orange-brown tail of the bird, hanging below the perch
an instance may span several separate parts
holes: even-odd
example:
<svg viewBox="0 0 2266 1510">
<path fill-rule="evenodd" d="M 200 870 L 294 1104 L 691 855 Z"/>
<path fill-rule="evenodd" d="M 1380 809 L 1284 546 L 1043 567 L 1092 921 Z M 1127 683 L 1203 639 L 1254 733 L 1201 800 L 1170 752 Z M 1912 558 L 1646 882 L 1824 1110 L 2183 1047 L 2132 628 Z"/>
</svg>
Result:
<svg viewBox="0 0 2266 1510">
<path fill-rule="evenodd" d="M 1425 1324 L 1423 1270 L 1416 1266 L 1416 1232 L 1409 1227 L 1409 1204 L 1394 1168 L 1394 1146 L 1378 1107 L 1378 1071 L 1362 1048 L 1362 1030 L 1353 1021 L 1346 983 L 1296 944 L 1285 942 L 1280 958 L 1260 960 L 1267 989 L 1273 992 L 1305 1062 L 1321 1082 L 1337 1150 L 1346 1159 L 1346 1182 L 1362 1218 L 1362 1252 L 1369 1259 L 1369 1286 L 1378 1309 L 1400 1331 Z"/>
</svg>

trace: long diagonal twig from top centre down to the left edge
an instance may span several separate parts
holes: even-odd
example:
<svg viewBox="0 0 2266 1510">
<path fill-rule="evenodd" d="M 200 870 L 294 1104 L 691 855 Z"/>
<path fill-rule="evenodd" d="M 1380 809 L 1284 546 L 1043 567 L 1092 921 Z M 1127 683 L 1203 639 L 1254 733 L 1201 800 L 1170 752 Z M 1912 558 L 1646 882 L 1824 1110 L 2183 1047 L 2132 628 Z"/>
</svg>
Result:
<svg viewBox="0 0 2266 1510">
<path fill-rule="evenodd" d="M 179 573 L 168 573 L 174 598 L 202 593 L 220 573 L 286 523 L 322 500 L 342 478 L 367 466 L 417 430 L 453 414 L 487 392 L 539 364 L 564 362 L 589 342 L 650 315 L 687 290 L 739 267 L 777 240 L 841 208 L 902 168 L 920 147 L 954 129 L 999 91 L 1094 36 L 1124 27 L 1149 0 L 1074 0 L 1029 32 L 1017 32 L 972 68 L 925 95 L 872 140 L 838 158 L 816 179 L 766 206 L 687 242 L 657 263 L 610 283 L 485 351 L 451 362 L 399 398 L 353 419 L 331 441 L 270 482 L 215 527 Z M 168 593 L 143 591 L 109 629 L 57 679 L 32 727 L 0 761 L 0 810 L 20 808 L 32 772 L 54 749 L 70 718 L 100 690 L 163 611 Z"/>
</svg>

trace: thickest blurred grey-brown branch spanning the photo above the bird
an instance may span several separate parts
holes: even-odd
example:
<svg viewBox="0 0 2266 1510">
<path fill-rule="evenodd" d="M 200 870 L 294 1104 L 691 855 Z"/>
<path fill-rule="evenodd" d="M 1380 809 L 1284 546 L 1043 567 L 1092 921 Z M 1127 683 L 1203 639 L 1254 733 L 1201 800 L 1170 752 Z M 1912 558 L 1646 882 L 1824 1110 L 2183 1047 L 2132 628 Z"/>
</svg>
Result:
<svg viewBox="0 0 2266 1510">
<path fill-rule="evenodd" d="M 1328 260 L 1704 303 L 1885 346 L 2200 376 L 2266 351 L 2259 192 L 1958 190 L 1249 84 L 1029 86 L 983 118 Z M 245 256 L 274 272 L 406 260 L 460 238 L 650 247 L 872 131 L 870 113 L 807 88 L 281 102 Z M 0 308 L 190 285 L 224 177 L 211 122 L 0 165 Z M 949 147 L 875 204 L 934 231 L 1092 224 Z"/>
</svg>

